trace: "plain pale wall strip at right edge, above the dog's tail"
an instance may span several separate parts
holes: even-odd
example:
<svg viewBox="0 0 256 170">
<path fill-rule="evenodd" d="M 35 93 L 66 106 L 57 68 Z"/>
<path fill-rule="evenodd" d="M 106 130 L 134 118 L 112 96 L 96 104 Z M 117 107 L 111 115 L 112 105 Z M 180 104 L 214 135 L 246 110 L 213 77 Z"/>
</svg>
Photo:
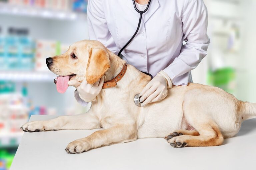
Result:
<svg viewBox="0 0 256 170">
<path fill-rule="evenodd" d="M 244 36 L 240 58 L 241 73 L 238 75 L 239 98 L 256 103 L 256 1 L 243 1 Z"/>
</svg>

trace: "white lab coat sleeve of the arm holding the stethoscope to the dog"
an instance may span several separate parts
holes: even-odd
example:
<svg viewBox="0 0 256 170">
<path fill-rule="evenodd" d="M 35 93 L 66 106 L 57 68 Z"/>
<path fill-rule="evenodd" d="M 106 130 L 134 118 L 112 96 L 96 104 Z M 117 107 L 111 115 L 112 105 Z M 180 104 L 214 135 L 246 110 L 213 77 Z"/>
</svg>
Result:
<svg viewBox="0 0 256 170">
<path fill-rule="evenodd" d="M 190 71 L 207 55 L 210 39 L 207 36 L 208 14 L 203 0 L 185 0 L 181 14 L 183 40 L 180 55 L 163 71 L 176 86 L 186 86 Z"/>
</svg>

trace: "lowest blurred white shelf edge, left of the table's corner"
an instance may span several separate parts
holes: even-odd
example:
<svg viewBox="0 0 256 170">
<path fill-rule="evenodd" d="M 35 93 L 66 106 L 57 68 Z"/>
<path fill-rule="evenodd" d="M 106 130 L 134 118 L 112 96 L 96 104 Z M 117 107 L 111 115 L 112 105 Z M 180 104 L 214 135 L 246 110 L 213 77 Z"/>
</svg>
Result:
<svg viewBox="0 0 256 170">
<path fill-rule="evenodd" d="M 15 133 L 0 132 L 0 149 L 18 147 L 23 133 L 23 131 Z"/>
</svg>

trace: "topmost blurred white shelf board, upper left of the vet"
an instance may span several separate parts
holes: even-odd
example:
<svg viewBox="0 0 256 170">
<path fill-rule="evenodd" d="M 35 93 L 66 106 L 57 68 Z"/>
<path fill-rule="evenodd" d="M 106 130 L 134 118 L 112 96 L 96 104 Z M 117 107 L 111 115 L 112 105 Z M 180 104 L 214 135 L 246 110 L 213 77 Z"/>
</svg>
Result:
<svg viewBox="0 0 256 170">
<path fill-rule="evenodd" d="M 87 15 L 85 13 L 31 6 L 10 5 L 3 2 L 0 2 L 0 14 L 70 21 L 87 19 Z"/>
</svg>

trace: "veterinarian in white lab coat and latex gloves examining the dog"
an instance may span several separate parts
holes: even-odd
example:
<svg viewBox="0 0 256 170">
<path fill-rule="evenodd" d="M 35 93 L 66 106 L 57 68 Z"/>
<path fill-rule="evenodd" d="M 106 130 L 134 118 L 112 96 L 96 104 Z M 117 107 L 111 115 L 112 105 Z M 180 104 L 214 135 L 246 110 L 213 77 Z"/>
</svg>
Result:
<svg viewBox="0 0 256 170">
<path fill-rule="evenodd" d="M 147 4 L 148 0 L 136 0 L 140 11 Z M 102 42 L 115 54 L 130 40 L 139 19 L 132 0 L 89 0 L 87 15 L 90 40 Z M 122 52 L 128 64 L 154 77 L 140 93 L 142 107 L 163 100 L 173 85 L 192 81 L 191 70 L 206 56 L 210 43 L 207 19 L 203 0 L 151 1 L 138 34 Z M 77 89 L 77 101 L 86 106 L 100 93 L 103 82 L 102 77 L 92 85 L 86 79 L 79 86 L 70 85 Z"/>
</svg>

